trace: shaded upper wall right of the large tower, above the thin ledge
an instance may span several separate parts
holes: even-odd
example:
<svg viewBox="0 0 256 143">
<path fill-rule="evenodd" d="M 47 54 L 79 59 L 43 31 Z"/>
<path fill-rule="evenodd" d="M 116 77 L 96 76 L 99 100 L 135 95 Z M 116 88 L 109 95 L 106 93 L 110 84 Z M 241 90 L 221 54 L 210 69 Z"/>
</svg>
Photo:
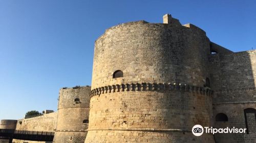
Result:
<svg viewBox="0 0 256 143">
<path fill-rule="evenodd" d="M 256 101 L 256 50 L 210 57 L 214 102 Z"/>
</svg>

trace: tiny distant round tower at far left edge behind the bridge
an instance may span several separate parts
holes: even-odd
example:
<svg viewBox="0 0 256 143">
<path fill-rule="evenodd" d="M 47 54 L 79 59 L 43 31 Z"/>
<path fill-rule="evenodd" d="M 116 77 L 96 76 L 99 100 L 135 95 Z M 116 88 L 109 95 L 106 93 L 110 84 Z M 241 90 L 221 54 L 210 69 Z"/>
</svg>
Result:
<svg viewBox="0 0 256 143">
<path fill-rule="evenodd" d="M 15 130 L 17 125 L 17 120 L 1 120 L 0 121 L 0 129 L 11 129 Z M 0 138 L 0 143 L 8 143 L 12 138 Z"/>
</svg>

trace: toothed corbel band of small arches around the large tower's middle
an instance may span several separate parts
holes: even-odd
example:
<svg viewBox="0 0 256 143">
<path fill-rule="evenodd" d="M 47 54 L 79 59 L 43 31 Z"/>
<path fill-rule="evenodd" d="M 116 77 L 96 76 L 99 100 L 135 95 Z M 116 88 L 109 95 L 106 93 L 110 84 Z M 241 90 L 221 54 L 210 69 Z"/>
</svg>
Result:
<svg viewBox="0 0 256 143">
<path fill-rule="evenodd" d="M 188 84 L 176 83 L 127 83 L 103 86 L 91 90 L 90 98 L 104 93 L 122 92 L 122 91 L 184 91 L 184 92 L 197 92 L 200 94 L 210 95 L 213 91 L 208 87 L 199 87 Z"/>
</svg>

